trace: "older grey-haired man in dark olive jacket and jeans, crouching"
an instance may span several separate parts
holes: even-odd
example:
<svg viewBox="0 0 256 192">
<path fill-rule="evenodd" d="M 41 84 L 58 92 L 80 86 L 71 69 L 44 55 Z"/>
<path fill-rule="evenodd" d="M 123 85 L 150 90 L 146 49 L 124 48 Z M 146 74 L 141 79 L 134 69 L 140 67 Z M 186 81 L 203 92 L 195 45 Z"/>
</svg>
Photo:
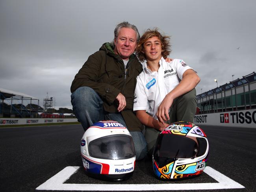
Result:
<svg viewBox="0 0 256 192">
<path fill-rule="evenodd" d="M 71 103 L 84 130 L 104 119 L 126 126 L 140 160 L 147 153 L 143 126 L 133 112 L 136 77 L 142 71 L 133 53 L 140 36 L 128 22 L 118 24 L 114 35 L 114 41 L 90 55 L 76 74 L 70 88 Z"/>
</svg>

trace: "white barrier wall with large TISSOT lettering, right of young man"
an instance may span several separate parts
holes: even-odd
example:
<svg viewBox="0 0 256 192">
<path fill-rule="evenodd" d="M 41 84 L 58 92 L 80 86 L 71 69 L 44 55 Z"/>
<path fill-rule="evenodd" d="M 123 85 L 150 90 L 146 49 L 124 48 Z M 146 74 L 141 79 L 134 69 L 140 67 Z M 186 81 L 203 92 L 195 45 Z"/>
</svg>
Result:
<svg viewBox="0 0 256 192">
<path fill-rule="evenodd" d="M 196 125 L 256 128 L 256 109 L 195 115 Z"/>
</svg>

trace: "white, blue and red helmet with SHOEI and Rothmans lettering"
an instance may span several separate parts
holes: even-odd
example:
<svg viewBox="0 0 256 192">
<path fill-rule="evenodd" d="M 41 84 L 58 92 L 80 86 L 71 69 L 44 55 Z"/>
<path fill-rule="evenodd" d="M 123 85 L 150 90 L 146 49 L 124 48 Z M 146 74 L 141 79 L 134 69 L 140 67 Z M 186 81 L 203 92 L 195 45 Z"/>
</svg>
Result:
<svg viewBox="0 0 256 192">
<path fill-rule="evenodd" d="M 115 121 L 100 121 L 89 127 L 81 140 L 81 155 L 86 174 L 97 179 L 123 181 L 135 168 L 132 136 Z"/>
</svg>

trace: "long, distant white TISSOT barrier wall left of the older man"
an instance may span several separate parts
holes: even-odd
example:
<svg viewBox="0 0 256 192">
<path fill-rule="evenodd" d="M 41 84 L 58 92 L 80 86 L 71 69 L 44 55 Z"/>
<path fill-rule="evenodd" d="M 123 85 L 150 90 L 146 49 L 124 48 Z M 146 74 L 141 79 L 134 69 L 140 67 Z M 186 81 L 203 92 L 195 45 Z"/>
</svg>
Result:
<svg viewBox="0 0 256 192">
<path fill-rule="evenodd" d="M 43 118 L 0 118 L 0 126 L 4 125 L 27 125 L 27 124 L 45 124 L 45 123 L 66 123 L 77 122 L 77 118 L 67 119 L 43 119 Z"/>
</svg>

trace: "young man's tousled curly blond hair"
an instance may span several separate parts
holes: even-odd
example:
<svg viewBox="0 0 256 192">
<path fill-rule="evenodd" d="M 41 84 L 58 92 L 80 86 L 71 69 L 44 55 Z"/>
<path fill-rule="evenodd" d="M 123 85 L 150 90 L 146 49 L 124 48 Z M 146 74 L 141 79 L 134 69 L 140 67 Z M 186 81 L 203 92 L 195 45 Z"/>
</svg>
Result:
<svg viewBox="0 0 256 192">
<path fill-rule="evenodd" d="M 162 35 L 158 28 L 153 28 L 152 30 L 148 29 L 139 39 L 137 44 L 137 48 L 135 49 L 135 53 L 139 58 L 139 61 L 144 62 L 146 60 L 144 51 L 144 43 L 151 37 L 158 37 L 161 41 L 161 48 L 162 48 L 162 56 L 164 59 L 171 53 L 171 44 L 170 44 L 170 37 L 166 35 Z"/>
</svg>

